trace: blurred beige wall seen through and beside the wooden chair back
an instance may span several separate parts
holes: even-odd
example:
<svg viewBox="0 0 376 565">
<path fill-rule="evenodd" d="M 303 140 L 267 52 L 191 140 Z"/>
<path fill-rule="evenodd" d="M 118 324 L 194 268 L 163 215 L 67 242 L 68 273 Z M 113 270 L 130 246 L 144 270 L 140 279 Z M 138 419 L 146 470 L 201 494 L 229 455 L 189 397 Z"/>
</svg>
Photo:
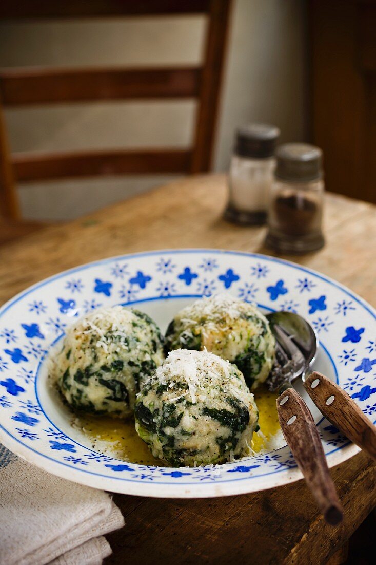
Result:
<svg viewBox="0 0 376 565">
<path fill-rule="evenodd" d="M 3 23 L 0 66 L 196 63 L 202 16 Z M 225 170 L 234 129 L 269 121 L 283 140 L 305 138 L 301 0 L 235 0 L 214 167 Z M 8 110 L 14 151 L 187 146 L 195 103 L 113 102 Z M 168 176 L 69 180 L 20 187 L 24 215 L 65 219 L 147 190 Z"/>
</svg>

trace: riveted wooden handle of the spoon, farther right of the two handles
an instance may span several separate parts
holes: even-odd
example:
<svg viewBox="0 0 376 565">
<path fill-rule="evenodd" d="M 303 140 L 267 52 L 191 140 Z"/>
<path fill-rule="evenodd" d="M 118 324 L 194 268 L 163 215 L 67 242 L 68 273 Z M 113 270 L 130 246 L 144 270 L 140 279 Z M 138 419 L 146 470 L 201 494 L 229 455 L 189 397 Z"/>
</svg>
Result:
<svg viewBox="0 0 376 565">
<path fill-rule="evenodd" d="M 304 386 L 325 418 L 376 459 L 376 427 L 351 396 L 317 371 L 307 377 Z"/>
</svg>

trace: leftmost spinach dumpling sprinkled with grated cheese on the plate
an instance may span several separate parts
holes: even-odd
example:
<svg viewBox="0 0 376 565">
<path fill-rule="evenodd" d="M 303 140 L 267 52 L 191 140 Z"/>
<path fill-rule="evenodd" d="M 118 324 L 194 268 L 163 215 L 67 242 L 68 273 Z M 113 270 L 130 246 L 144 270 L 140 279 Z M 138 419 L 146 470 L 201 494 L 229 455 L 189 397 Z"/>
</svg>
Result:
<svg viewBox="0 0 376 565">
<path fill-rule="evenodd" d="M 55 360 L 68 404 L 96 414 L 129 415 L 135 396 L 164 360 L 151 318 L 123 306 L 102 308 L 68 329 Z"/>
</svg>

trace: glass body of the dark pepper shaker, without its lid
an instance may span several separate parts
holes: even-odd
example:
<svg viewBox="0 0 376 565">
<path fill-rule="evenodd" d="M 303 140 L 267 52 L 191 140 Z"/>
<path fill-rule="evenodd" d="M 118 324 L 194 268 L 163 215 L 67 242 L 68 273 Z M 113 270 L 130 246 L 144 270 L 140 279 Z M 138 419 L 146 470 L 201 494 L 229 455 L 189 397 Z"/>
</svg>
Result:
<svg viewBox="0 0 376 565">
<path fill-rule="evenodd" d="M 282 253 L 321 249 L 324 182 L 275 179 L 269 194 L 265 243 Z"/>
</svg>

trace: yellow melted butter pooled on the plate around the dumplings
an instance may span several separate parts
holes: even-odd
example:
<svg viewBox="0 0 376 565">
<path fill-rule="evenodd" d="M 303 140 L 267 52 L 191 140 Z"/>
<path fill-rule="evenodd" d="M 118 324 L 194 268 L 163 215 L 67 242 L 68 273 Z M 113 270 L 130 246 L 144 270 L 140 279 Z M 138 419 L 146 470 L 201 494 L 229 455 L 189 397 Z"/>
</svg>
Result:
<svg viewBox="0 0 376 565">
<path fill-rule="evenodd" d="M 252 448 L 256 453 L 266 449 L 270 438 L 279 430 L 277 396 L 263 386 L 255 391 L 261 431 L 261 434 L 253 434 Z M 143 465 L 165 466 L 165 463 L 151 455 L 147 445 L 137 435 L 133 418 L 120 420 L 110 416 L 80 415 L 78 421 L 79 427 L 92 442 L 93 449 L 101 451 L 99 446 L 95 445 L 99 440 L 108 444 L 111 451 L 115 450 L 115 457 L 119 459 Z"/>
</svg>

